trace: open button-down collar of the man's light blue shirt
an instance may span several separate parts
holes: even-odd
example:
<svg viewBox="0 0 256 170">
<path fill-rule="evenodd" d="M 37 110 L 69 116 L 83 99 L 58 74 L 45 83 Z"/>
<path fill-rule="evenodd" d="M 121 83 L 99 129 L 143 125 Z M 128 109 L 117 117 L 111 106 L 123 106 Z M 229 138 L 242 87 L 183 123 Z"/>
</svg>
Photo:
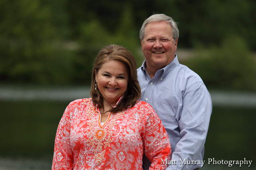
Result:
<svg viewBox="0 0 256 170">
<path fill-rule="evenodd" d="M 164 79 L 167 76 L 167 74 L 169 74 L 176 66 L 178 66 L 178 64 L 180 64 L 179 61 L 178 61 L 178 56 L 175 55 L 173 61 L 170 64 L 168 64 L 167 66 L 165 66 L 164 68 L 158 70 L 156 72 L 156 75 L 157 75 L 158 72 L 163 72 L 161 78 Z M 147 71 L 146 71 L 146 60 L 142 63 L 141 69 L 142 69 L 142 72 L 146 76 L 146 73 L 147 73 Z"/>
</svg>

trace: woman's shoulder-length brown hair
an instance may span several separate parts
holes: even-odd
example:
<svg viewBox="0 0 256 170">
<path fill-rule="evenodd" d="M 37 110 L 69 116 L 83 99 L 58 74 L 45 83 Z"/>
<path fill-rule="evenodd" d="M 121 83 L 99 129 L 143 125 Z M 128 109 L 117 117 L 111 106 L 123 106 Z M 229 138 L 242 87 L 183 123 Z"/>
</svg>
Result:
<svg viewBox="0 0 256 170">
<path fill-rule="evenodd" d="M 102 64 L 106 61 L 116 60 L 124 63 L 128 72 L 128 86 L 124 93 L 124 98 L 118 105 L 112 108 L 110 111 L 118 112 L 128 107 L 133 107 L 138 100 L 140 100 L 141 90 L 137 77 L 137 64 L 134 55 L 126 48 L 120 45 L 109 45 L 100 50 L 94 60 L 94 66 L 92 68 L 92 83 L 90 95 L 94 104 L 98 104 L 100 108 L 104 109 L 103 97 L 96 85 L 96 73 L 100 70 Z M 96 72 L 96 73 L 95 73 Z"/>
</svg>

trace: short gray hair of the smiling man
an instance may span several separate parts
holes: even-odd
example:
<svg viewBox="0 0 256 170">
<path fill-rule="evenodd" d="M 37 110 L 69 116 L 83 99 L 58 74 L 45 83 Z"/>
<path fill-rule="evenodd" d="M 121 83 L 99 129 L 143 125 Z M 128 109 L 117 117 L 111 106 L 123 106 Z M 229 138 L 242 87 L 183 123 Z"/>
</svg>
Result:
<svg viewBox="0 0 256 170">
<path fill-rule="evenodd" d="M 146 25 L 150 22 L 154 22 L 154 21 L 166 21 L 168 23 L 171 24 L 172 26 L 172 37 L 174 39 L 174 41 L 176 40 L 176 38 L 179 37 L 179 29 L 177 26 L 177 23 L 169 16 L 166 16 L 165 14 L 154 14 L 152 16 L 150 16 L 149 18 L 147 18 L 144 23 L 142 24 L 142 27 L 140 28 L 140 39 L 143 40 L 144 35 L 145 35 L 145 28 Z"/>
</svg>

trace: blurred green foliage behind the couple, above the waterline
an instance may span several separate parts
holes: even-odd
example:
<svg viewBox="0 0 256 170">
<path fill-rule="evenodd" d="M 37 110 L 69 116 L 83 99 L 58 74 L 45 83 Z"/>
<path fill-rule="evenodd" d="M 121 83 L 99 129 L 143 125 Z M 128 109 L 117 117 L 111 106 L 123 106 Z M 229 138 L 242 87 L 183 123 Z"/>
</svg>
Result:
<svg viewBox="0 0 256 170">
<path fill-rule="evenodd" d="M 179 48 L 207 86 L 255 90 L 256 1 L 1 0 L 0 80 L 4 84 L 89 85 L 106 45 L 141 53 L 139 30 L 153 13 L 178 22 Z"/>
</svg>

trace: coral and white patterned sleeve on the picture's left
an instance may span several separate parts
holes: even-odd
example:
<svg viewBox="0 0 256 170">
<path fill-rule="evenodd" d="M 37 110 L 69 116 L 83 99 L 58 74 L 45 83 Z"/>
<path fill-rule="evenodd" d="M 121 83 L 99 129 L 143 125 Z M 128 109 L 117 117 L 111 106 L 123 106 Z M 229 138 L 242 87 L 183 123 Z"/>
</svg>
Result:
<svg viewBox="0 0 256 170">
<path fill-rule="evenodd" d="M 55 143 L 52 170 L 72 170 L 73 152 L 70 145 L 70 109 L 69 105 L 58 125 Z"/>
</svg>

